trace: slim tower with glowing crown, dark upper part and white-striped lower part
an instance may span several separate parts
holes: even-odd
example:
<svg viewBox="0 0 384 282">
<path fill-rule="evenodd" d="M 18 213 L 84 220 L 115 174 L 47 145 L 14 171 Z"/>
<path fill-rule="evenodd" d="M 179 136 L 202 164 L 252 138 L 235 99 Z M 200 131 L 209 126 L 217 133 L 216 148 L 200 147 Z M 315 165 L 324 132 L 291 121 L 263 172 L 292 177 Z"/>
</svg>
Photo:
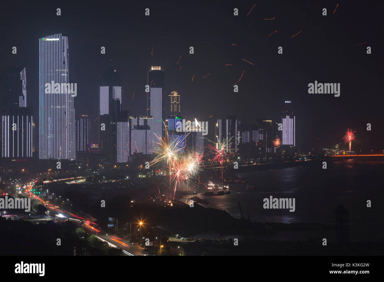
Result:
<svg viewBox="0 0 384 282">
<path fill-rule="evenodd" d="M 152 66 L 148 71 L 147 84 L 149 85 L 149 93 L 147 94 L 147 115 L 152 116 L 151 124 L 149 125 L 152 132 L 152 151 L 160 152 L 159 140 L 163 137 L 163 118 L 164 99 L 162 94 L 164 91 L 164 70 L 160 66 Z"/>
</svg>

